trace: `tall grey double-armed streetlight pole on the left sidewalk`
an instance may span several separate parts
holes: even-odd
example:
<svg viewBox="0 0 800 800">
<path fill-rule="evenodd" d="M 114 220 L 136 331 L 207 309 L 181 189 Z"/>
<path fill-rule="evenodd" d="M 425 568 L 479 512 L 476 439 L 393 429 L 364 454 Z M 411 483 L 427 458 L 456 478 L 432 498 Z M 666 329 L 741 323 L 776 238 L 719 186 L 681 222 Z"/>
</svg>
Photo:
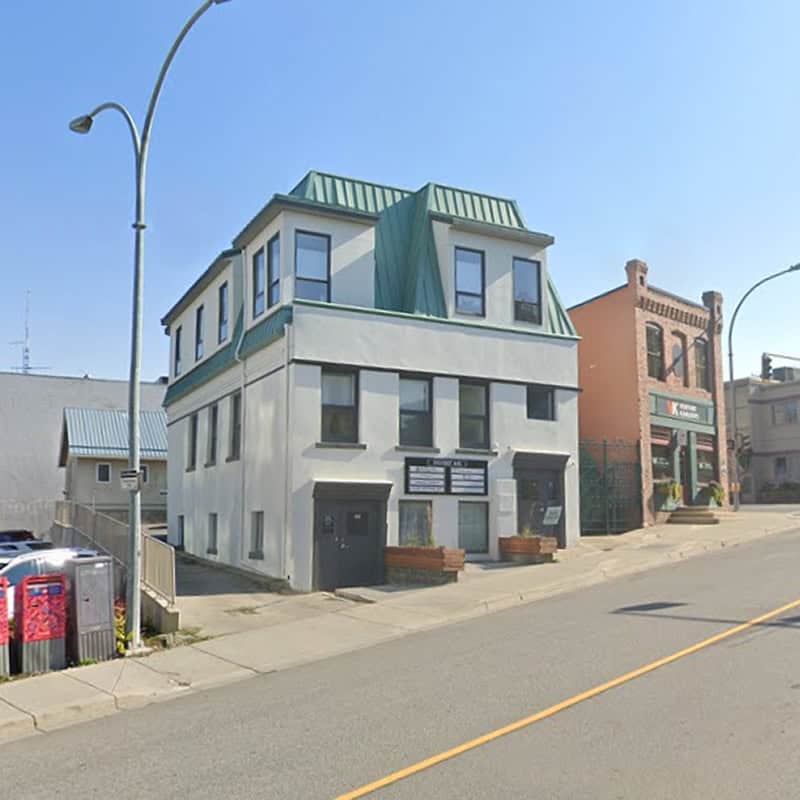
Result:
<svg viewBox="0 0 800 800">
<path fill-rule="evenodd" d="M 186 35 L 203 14 L 211 6 L 220 5 L 228 0 L 206 0 L 197 11 L 192 14 L 189 20 L 181 29 L 172 47 L 161 65 L 153 92 L 150 95 L 150 103 L 147 106 L 147 113 L 144 118 L 142 135 L 136 128 L 136 123 L 125 106 L 119 103 L 102 103 L 95 109 L 81 117 L 76 117 L 70 122 L 70 130 L 75 133 L 89 133 L 92 128 L 94 118 L 102 111 L 118 111 L 125 118 L 133 140 L 133 151 L 135 157 L 136 173 L 136 210 L 133 223 L 134 245 L 133 245 L 133 315 L 131 321 L 131 366 L 130 378 L 128 383 L 128 468 L 135 472 L 137 476 L 136 488 L 130 489 L 128 501 L 128 598 L 127 614 L 125 616 L 125 633 L 128 639 L 128 650 L 135 652 L 142 647 L 141 639 L 141 533 L 142 533 L 142 495 L 141 481 L 139 475 L 141 471 L 140 462 L 140 419 L 139 411 L 141 406 L 139 372 L 142 362 L 142 299 L 144 286 L 144 231 L 147 227 L 144 221 L 144 200 L 145 184 L 147 176 L 147 154 L 150 146 L 150 131 L 153 127 L 153 116 L 155 114 L 158 98 L 161 95 L 161 88 L 164 79 L 167 77 L 170 65 L 172 64 L 178 48 L 186 38 Z"/>
</svg>

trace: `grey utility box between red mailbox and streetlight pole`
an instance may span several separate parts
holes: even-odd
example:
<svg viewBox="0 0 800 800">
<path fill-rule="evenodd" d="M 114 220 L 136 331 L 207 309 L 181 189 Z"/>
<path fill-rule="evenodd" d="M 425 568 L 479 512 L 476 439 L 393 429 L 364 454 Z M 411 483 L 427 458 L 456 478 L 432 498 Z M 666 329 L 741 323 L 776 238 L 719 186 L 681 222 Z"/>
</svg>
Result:
<svg viewBox="0 0 800 800">
<path fill-rule="evenodd" d="M 114 564 L 109 556 L 76 558 L 67 576 L 67 658 L 108 661 L 116 655 Z"/>
</svg>

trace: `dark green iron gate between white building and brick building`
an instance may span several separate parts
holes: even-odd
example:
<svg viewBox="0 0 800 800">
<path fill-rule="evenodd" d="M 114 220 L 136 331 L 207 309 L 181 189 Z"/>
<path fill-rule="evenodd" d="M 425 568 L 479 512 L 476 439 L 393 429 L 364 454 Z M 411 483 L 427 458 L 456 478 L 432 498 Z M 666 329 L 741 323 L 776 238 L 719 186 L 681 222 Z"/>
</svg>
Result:
<svg viewBox="0 0 800 800">
<path fill-rule="evenodd" d="M 622 533 L 641 527 L 638 442 L 580 443 L 581 532 Z"/>
</svg>

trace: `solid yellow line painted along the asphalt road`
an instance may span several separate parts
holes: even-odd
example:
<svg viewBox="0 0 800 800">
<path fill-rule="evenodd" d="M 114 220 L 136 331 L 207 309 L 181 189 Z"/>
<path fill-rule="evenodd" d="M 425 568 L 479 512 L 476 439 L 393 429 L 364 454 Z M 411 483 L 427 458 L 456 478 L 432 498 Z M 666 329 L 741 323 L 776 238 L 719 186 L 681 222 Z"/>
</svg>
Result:
<svg viewBox="0 0 800 800">
<path fill-rule="evenodd" d="M 372 783 L 368 783 L 358 789 L 354 789 L 351 792 L 340 794 L 335 798 L 335 800 L 357 800 L 359 797 L 366 797 L 368 794 L 377 792 L 379 789 L 383 789 L 393 783 L 397 783 L 404 778 L 408 778 L 411 775 L 416 775 L 417 773 L 426 769 L 435 767 L 437 764 L 441 764 L 443 761 L 448 761 L 449 759 L 460 756 L 463 753 L 469 752 L 470 750 L 475 750 L 478 747 L 482 747 L 489 742 L 493 742 L 495 739 L 499 739 L 501 736 L 507 736 L 509 733 L 515 733 L 516 731 L 527 728 L 528 726 L 534 725 L 537 722 L 541 722 L 543 719 L 552 717 L 555 714 L 558 714 L 560 711 L 565 711 L 568 708 L 572 708 L 573 706 L 578 705 L 578 703 L 583 703 L 585 700 L 591 700 L 593 697 L 603 694 L 603 692 L 616 689 L 617 686 L 622 686 L 624 683 L 628 683 L 636 678 L 641 678 L 642 675 L 647 675 L 649 672 L 653 672 L 660 667 L 665 667 L 667 664 L 672 664 L 674 661 L 678 661 L 681 658 L 686 658 L 686 656 L 690 656 L 699 650 L 703 650 L 706 647 L 711 647 L 711 645 L 722 642 L 725 639 L 730 639 L 732 636 L 736 636 L 736 634 L 742 633 L 742 631 L 746 631 L 748 628 L 752 628 L 755 625 L 760 625 L 762 622 L 766 622 L 767 620 L 778 617 L 781 614 L 785 614 L 787 611 L 791 611 L 793 608 L 798 607 L 800 607 L 800 599 L 794 600 L 791 603 L 787 603 L 780 608 L 775 608 L 772 611 L 768 611 L 766 614 L 762 614 L 760 617 L 755 617 L 747 622 L 743 622 L 741 625 L 728 628 L 728 630 L 722 631 L 722 633 L 718 633 L 715 636 L 710 636 L 708 639 L 703 639 L 702 642 L 697 642 L 697 644 L 693 644 L 690 647 L 684 648 L 683 650 L 678 650 L 672 655 L 658 659 L 658 661 L 653 661 L 650 664 L 645 664 L 645 666 L 639 667 L 631 672 L 626 672 L 624 675 L 620 675 L 618 678 L 601 683 L 598 686 L 588 689 L 585 692 L 581 692 L 580 694 L 576 694 L 567 700 L 562 700 L 560 703 L 556 703 L 554 706 L 545 708 L 543 711 L 537 711 L 535 714 L 531 714 L 529 717 L 517 720 L 516 722 L 512 722 L 510 725 L 497 728 L 489 733 L 484 733 L 483 736 L 478 736 L 476 739 L 470 739 L 470 741 L 464 742 L 457 747 L 452 747 L 449 750 L 439 753 L 438 755 L 431 756 L 423 761 L 418 761 L 416 764 L 412 764 L 410 767 L 405 767 L 397 772 L 393 772 L 391 775 L 387 775 L 384 778 L 380 778 Z"/>
</svg>

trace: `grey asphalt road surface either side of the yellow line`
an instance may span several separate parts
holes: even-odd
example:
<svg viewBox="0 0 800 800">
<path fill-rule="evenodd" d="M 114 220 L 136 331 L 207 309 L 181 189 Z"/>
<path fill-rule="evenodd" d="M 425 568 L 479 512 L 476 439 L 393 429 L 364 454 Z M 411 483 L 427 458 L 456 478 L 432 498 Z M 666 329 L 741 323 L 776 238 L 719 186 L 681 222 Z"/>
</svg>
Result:
<svg viewBox="0 0 800 800">
<path fill-rule="evenodd" d="M 2 796 L 338 797 L 800 599 L 798 566 L 800 530 L 21 740 Z M 369 796 L 785 800 L 799 753 L 797 608 Z"/>
</svg>

